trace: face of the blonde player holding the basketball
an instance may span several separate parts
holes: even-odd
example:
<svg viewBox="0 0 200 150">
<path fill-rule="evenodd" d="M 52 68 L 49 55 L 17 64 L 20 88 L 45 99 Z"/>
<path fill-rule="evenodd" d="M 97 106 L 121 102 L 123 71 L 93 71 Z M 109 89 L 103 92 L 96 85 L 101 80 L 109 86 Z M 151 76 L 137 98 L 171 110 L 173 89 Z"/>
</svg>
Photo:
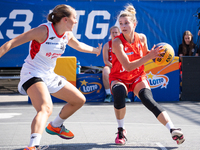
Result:
<svg viewBox="0 0 200 150">
<path fill-rule="evenodd" d="M 123 34 L 129 34 L 131 32 L 135 31 L 135 25 L 132 22 L 131 18 L 126 16 L 126 17 L 120 17 L 119 18 L 119 25 L 120 29 Z"/>
</svg>

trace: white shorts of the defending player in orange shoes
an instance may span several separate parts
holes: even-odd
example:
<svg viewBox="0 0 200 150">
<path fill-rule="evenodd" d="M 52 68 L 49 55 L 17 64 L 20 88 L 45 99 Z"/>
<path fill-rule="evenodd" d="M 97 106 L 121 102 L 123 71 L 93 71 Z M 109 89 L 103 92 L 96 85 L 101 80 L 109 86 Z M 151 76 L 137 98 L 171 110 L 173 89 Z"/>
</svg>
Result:
<svg viewBox="0 0 200 150">
<path fill-rule="evenodd" d="M 66 79 L 64 79 L 63 77 L 53 73 L 49 73 L 49 74 L 39 74 L 39 75 L 33 75 L 33 73 L 30 72 L 21 72 L 20 74 L 20 82 L 18 84 L 18 90 L 21 94 L 26 95 L 26 91 L 24 90 L 24 88 L 22 87 L 22 85 L 28 81 L 29 79 L 33 78 L 33 77 L 39 77 L 43 80 L 43 82 L 46 84 L 49 93 L 56 93 L 57 91 L 59 91 L 60 89 L 62 89 L 67 81 Z"/>
</svg>

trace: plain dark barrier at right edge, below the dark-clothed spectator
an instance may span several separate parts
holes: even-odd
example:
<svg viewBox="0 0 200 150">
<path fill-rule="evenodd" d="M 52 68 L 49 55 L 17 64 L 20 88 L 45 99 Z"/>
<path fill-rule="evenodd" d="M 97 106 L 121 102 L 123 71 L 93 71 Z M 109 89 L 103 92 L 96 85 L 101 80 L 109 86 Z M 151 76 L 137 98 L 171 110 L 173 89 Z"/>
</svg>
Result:
<svg viewBox="0 0 200 150">
<path fill-rule="evenodd" d="M 200 101 L 200 57 L 183 56 L 181 100 Z"/>
</svg>

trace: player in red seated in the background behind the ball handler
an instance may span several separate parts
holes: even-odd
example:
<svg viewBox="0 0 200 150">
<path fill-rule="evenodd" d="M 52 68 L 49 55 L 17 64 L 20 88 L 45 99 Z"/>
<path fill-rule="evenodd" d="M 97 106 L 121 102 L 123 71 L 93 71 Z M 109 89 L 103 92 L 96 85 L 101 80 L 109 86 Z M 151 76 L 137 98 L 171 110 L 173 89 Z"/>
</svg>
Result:
<svg viewBox="0 0 200 150">
<path fill-rule="evenodd" d="M 110 28 L 110 36 L 111 40 L 108 41 L 104 47 L 103 47 L 103 60 L 105 63 L 105 67 L 103 68 L 102 71 L 102 78 L 103 78 L 103 85 L 106 91 L 106 98 L 104 100 L 105 103 L 110 103 L 112 101 L 112 95 L 110 92 L 110 85 L 109 85 L 109 74 L 110 74 L 110 69 L 112 68 L 112 40 L 116 36 L 120 35 L 120 30 L 117 26 L 112 26 Z M 126 102 L 131 102 L 131 100 L 126 96 L 125 98 Z"/>
</svg>

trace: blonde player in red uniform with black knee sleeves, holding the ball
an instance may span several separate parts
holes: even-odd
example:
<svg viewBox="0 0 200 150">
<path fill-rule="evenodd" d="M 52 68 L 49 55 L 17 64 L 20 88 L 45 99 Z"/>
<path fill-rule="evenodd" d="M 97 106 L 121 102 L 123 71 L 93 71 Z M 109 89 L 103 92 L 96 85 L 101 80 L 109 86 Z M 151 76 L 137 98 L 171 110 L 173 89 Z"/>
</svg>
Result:
<svg viewBox="0 0 200 150">
<path fill-rule="evenodd" d="M 144 72 L 144 63 L 159 57 L 161 47 L 148 50 L 144 34 L 135 32 L 137 25 L 136 11 L 132 5 L 126 6 L 119 15 L 122 33 L 112 42 L 112 68 L 109 81 L 114 98 L 115 116 L 118 122 L 116 144 L 125 144 L 126 130 L 124 117 L 126 113 L 125 97 L 132 91 L 142 103 L 166 126 L 172 138 L 181 144 L 184 142 L 181 129 L 174 127 L 167 112 L 153 99 L 149 83 Z M 155 49 L 154 49 L 155 48 Z"/>
</svg>

